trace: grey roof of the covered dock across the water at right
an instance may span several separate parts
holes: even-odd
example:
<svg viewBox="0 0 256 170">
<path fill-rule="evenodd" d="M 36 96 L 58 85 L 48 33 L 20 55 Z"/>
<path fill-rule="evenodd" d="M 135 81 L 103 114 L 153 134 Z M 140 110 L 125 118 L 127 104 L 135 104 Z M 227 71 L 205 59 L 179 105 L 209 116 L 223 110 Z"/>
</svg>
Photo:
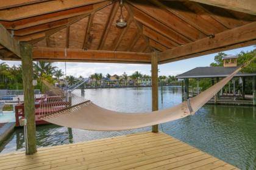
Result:
<svg viewBox="0 0 256 170">
<path fill-rule="evenodd" d="M 227 77 L 238 67 L 196 67 L 188 72 L 177 75 L 177 78 L 210 78 Z M 238 72 L 235 77 L 253 76 L 255 73 Z"/>
</svg>

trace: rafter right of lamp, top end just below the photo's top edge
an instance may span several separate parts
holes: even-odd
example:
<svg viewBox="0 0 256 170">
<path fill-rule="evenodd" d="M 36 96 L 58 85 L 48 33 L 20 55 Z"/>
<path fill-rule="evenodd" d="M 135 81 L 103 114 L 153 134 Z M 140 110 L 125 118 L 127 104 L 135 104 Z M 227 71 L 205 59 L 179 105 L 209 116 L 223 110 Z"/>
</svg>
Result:
<svg viewBox="0 0 256 170">
<path fill-rule="evenodd" d="M 176 45 L 187 44 L 188 42 L 191 42 L 190 39 L 185 38 L 185 36 L 180 35 L 179 33 L 167 27 L 165 24 L 158 22 L 156 19 L 151 18 L 135 7 L 130 5 L 130 9 L 132 10 L 133 18 L 136 19 L 136 21 L 150 27 L 155 32 L 161 33 L 163 36 L 171 39 Z"/>
</svg>

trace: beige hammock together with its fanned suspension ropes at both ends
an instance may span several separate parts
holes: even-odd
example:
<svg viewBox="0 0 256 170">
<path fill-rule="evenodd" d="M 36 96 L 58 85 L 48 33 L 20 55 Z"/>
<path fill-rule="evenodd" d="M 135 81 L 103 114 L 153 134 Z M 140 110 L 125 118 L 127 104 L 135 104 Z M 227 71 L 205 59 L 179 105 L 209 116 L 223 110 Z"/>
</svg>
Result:
<svg viewBox="0 0 256 170">
<path fill-rule="evenodd" d="M 253 60 L 254 58 L 252 58 Z M 252 61 L 251 60 L 251 61 Z M 166 123 L 194 115 L 208 100 L 219 92 L 230 80 L 240 72 L 236 69 L 228 77 L 223 78 L 212 87 L 196 97 L 163 110 L 146 113 L 123 113 L 107 110 L 97 106 L 90 100 L 65 93 L 59 87 L 47 81 L 44 84 L 44 95 L 40 98 L 40 118 L 60 126 L 73 127 L 91 131 L 123 131 Z"/>
</svg>

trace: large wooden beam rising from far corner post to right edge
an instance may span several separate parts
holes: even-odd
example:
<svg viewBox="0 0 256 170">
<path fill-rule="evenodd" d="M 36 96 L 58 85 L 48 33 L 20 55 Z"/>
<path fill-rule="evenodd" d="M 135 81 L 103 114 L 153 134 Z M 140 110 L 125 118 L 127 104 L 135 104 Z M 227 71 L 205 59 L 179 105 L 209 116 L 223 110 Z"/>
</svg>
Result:
<svg viewBox="0 0 256 170">
<path fill-rule="evenodd" d="M 192 58 L 195 56 L 219 52 L 224 48 L 236 47 L 236 44 L 244 42 L 254 42 L 256 39 L 256 22 L 227 30 L 215 35 L 215 38 L 203 38 L 195 42 L 190 42 L 184 46 L 175 47 L 160 53 L 160 62 L 168 63 L 170 61 Z M 254 42 L 255 43 L 255 42 Z M 247 43 L 244 44 L 246 46 Z M 241 45 L 242 46 L 242 45 Z M 219 50 L 218 50 L 219 49 Z"/>
</svg>

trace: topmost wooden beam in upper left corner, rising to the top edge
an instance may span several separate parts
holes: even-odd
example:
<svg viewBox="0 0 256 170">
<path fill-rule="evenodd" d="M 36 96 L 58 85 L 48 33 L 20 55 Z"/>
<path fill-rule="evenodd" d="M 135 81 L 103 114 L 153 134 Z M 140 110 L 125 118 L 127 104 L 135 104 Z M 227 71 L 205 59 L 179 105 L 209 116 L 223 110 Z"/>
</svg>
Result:
<svg viewBox="0 0 256 170">
<path fill-rule="evenodd" d="M 45 15 L 52 12 L 59 12 L 85 5 L 96 4 L 107 0 L 62 0 L 46 1 L 37 4 L 14 7 L 12 9 L 0 10 L 0 19 L 5 21 L 15 21 L 18 19 L 30 18 L 32 16 Z M 88 6 L 89 7 L 89 6 Z"/>
</svg>

